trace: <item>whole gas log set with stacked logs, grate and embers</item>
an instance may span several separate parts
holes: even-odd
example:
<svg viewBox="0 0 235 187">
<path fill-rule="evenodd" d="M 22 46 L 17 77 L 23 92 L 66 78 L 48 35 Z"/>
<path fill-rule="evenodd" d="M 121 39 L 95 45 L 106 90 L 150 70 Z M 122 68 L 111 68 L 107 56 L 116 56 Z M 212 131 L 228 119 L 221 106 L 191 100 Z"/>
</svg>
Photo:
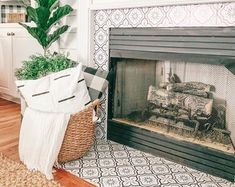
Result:
<svg viewBox="0 0 235 187">
<path fill-rule="evenodd" d="M 212 85 L 174 81 L 149 86 L 147 107 L 137 120 L 161 127 L 166 132 L 225 145 L 231 144 L 226 130 L 226 108 L 216 105 Z M 133 118 L 133 113 L 128 118 Z"/>
</svg>

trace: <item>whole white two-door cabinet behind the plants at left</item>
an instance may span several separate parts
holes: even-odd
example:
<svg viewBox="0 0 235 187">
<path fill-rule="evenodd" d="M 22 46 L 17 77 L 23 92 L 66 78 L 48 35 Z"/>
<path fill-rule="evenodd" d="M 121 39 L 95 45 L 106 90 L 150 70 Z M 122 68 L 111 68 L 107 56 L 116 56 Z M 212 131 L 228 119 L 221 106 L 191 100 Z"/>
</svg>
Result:
<svg viewBox="0 0 235 187">
<path fill-rule="evenodd" d="M 0 28 L 0 94 L 17 98 L 16 68 L 32 54 L 42 52 L 41 46 L 23 28 Z"/>
</svg>

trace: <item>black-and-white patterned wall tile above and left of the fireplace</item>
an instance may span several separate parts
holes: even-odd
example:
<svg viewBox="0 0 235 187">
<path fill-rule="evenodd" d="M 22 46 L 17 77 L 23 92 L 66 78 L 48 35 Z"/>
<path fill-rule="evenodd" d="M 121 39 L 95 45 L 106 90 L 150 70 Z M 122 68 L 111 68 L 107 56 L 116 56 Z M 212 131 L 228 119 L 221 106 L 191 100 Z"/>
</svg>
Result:
<svg viewBox="0 0 235 187">
<path fill-rule="evenodd" d="M 97 68 L 108 69 L 108 40 L 111 27 L 234 26 L 235 3 L 98 10 L 95 13 L 95 54 Z M 106 137 L 106 102 L 97 137 Z"/>
</svg>

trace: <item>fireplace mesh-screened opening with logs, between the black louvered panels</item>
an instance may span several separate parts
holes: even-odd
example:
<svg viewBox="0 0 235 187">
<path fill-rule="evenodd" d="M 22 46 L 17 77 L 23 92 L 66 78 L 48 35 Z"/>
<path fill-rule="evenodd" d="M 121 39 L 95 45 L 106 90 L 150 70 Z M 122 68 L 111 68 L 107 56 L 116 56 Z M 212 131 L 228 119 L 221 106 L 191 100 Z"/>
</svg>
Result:
<svg viewBox="0 0 235 187">
<path fill-rule="evenodd" d="M 234 153 L 233 90 L 224 66 L 121 59 L 113 120 Z"/>
</svg>

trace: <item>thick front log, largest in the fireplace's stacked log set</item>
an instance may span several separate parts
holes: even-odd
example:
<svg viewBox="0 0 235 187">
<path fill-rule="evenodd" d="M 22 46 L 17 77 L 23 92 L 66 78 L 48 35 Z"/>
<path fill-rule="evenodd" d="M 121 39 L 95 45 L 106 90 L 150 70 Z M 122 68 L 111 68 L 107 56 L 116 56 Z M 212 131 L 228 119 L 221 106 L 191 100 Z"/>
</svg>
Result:
<svg viewBox="0 0 235 187">
<path fill-rule="evenodd" d="M 170 92 L 164 89 L 157 89 L 154 86 L 149 87 L 147 100 L 157 106 L 177 106 L 179 108 L 191 110 L 192 115 L 196 116 L 209 116 L 212 112 L 213 105 L 213 99 L 178 92 Z"/>
</svg>

